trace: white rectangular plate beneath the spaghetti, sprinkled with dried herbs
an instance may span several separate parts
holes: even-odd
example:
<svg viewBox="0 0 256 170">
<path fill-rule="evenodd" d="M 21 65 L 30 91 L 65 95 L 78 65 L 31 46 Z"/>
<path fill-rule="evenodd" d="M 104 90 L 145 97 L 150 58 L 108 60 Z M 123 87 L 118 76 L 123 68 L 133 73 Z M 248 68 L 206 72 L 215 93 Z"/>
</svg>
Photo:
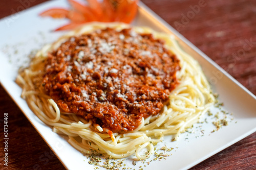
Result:
<svg viewBox="0 0 256 170">
<path fill-rule="evenodd" d="M 38 50 L 64 34 L 52 30 L 65 25 L 68 20 L 38 16 L 40 12 L 53 7 L 68 7 L 68 4 L 67 1 L 51 1 L 1 19 L 0 28 L 5 34 L 2 34 L 0 42 L 0 81 L 66 168 L 94 169 L 88 159 L 75 150 L 65 137 L 52 132 L 51 127 L 46 126 L 33 114 L 26 101 L 20 98 L 22 89 L 14 82 L 18 68 L 28 63 L 31 51 Z M 188 169 L 256 131 L 256 98 L 250 91 L 142 3 L 133 24 L 174 34 L 182 48 L 199 61 L 214 91 L 220 94 L 220 101 L 225 104 L 224 109 L 233 113 L 231 117 L 234 118 L 229 126 L 214 133 L 210 132 L 215 127 L 211 123 L 204 123 L 196 125 L 194 131 L 191 130 L 194 133 L 181 135 L 179 141 L 170 142 L 170 137 L 166 137 L 162 144 L 175 148 L 169 153 L 172 155 L 161 162 L 152 161 L 150 165 L 146 164 L 146 167 L 143 165 L 144 169 L 159 169 L 160 166 L 162 169 Z M 212 117 L 206 118 L 208 122 L 212 121 Z M 201 130 L 204 130 L 204 133 Z M 142 165 L 138 162 L 134 166 L 130 160 L 125 163 L 136 169 Z"/>
</svg>

